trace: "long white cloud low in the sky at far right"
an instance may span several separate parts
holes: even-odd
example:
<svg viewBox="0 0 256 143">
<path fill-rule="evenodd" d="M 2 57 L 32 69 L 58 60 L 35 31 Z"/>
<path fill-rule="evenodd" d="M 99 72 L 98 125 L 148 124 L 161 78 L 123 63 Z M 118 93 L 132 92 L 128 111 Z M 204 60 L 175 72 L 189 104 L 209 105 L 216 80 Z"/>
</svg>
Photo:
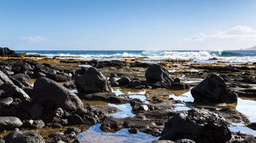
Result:
<svg viewBox="0 0 256 143">
<path fill-rule="evenodd" d="M 248 26 L 234 26 L 229 30 L 215 31 L 212 34 L 197 33 L 195 36 L 184 40 L 188 42 L 205 42 L 214 39 L 256 40 L 256 30 Z"/>
</svg>

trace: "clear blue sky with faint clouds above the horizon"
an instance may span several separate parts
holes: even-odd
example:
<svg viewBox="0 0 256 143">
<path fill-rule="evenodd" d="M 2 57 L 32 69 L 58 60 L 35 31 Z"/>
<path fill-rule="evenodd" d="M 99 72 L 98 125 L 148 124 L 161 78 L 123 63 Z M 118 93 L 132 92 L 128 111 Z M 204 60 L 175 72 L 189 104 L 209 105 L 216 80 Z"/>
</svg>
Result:
<svg viewBox="0 0 256 143">
<path fill-rule="evenodd" d="M 255 0 L 1 0 L 0 47 L 236 50 L 256 45 Z"/>
</svg>

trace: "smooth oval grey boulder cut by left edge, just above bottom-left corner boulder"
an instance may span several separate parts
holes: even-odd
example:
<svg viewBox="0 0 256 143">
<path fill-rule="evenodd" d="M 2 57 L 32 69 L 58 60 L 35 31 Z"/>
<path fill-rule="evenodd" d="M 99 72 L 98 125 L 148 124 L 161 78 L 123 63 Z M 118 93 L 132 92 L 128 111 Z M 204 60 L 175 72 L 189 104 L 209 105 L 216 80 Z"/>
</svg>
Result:
<svg viewBox="0 0 256 143">
<path fill-rule="evenodd" d="M 0 117 L 0 131 L 18 128 L 23 123 L 18 117 Z"/>
</svg>

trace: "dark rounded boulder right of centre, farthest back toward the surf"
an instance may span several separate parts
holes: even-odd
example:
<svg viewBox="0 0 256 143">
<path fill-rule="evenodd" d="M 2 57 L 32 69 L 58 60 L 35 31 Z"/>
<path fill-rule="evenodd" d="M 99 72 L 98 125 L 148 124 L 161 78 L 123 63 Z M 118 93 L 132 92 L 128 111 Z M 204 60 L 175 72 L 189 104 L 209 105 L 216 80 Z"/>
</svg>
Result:
<svg viewBox="0 0 256 143">
<path fill-rule="evenodd" d="M 157 64 L 149 66 L 145 76 L 148 82 L 165 82 L 169 85 L 173 84 L 173 77 L 170 77 L 169 71 Z"/>
</svg>

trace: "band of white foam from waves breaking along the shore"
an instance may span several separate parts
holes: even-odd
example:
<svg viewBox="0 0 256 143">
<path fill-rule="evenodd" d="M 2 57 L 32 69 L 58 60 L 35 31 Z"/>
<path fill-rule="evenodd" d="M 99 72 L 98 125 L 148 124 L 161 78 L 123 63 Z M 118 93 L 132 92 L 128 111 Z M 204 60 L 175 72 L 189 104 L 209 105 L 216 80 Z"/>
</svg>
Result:
<svg viewBox="0 0 256 143">
<path fill-rule="evenodd" d="M 178 59 L 192 59 L 197 62 L 216 62 L 208 61 L 209 58 L 219 58 L 220 61 L 227 61 L 230 63 L 246 63 L 256 62 L 256 56 L 222 56 L 223 51 L 161 51 L 161 50 L 146 50 L 141 53 L 114 53 L 114 54 L 83 54 L 83 53 L 47 53 L 41 55 L 47 55 L 49 58 L 54 56 L 60 56 L 61 58 L 74 58 L 74 59 L 120 59 L 120 58 L 139 58 L 148 57 L 149 59 L 165 59 L 165 58 L 178 58 Z M 31 53 L 37 54 L 37 53 Z"/>
</svg>

